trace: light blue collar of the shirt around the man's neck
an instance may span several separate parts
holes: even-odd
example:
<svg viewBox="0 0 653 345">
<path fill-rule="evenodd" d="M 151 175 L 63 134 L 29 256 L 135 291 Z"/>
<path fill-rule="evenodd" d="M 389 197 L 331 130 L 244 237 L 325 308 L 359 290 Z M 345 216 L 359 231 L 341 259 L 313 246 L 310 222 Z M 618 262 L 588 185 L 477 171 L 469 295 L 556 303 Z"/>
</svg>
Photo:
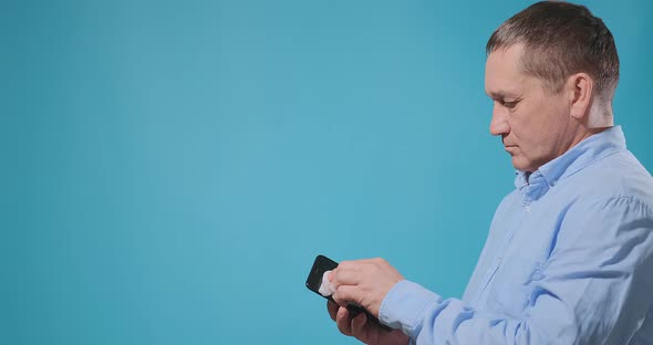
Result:
<svg viewBox="0 0 653 345">
<path fill-rule="evenodd" d="M 526 171 L 516 170 L 515 187 L 521 190 L 528 186 L 527 194 L 537 200 L 561 179 L 582 170 L 598 159 L 624 149 L 625 137 L 621 126 L 608 128 L 578 143 L 530 176 Z"/>
</svg>

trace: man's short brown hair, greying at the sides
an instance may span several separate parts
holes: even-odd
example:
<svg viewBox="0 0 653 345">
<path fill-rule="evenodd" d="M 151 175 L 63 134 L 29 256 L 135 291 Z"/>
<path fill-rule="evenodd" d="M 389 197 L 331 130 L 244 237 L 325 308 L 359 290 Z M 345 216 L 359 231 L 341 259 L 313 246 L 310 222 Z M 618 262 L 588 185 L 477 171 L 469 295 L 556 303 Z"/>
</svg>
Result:
<svg viewBox="0 0 653 345">
<path fill-rule="evenodd" d="M 580 4 L 541 1 L 504 22 L 490 36 L 486 54 L 514 44 L 525 45 L 520 64 L 525 73 L 558 93 L 579 72 L 594 80 L 595 96 L 611 102 L 619 83 L 619 55 L 614 38 L 603 21 Z"/>
</svg>

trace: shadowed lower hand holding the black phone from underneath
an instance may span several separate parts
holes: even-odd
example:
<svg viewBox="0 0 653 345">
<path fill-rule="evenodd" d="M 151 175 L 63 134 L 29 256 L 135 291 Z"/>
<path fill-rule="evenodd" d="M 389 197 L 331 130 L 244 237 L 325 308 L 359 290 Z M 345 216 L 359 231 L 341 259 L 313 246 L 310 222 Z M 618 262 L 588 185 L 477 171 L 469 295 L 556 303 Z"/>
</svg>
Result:
<svg viewBox="0 0 653 345">
<path fill-rule="evenodd" d="M 400 330 L 387 332 L 379 327 L 373 322 L 367 322 L 367 315 L 360 313 L 352 318 L 346 307 L 340 306 L 331 301 L 326 302 L 329 315 L 335 324 L 340 333 L 353 336 L 356 339 L 371 345 L 406 345 L 408 344 L 408 336 Z"/>
</svg>

